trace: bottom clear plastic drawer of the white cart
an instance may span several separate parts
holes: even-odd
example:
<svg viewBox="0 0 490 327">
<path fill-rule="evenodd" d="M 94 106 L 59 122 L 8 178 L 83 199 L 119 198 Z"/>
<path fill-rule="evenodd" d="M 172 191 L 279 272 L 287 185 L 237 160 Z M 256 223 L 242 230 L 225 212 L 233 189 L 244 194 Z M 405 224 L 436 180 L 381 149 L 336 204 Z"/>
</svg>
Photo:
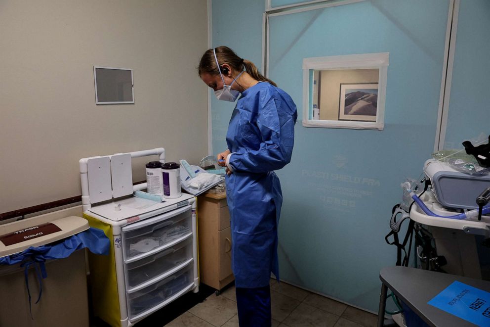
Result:
<svg viewBox="0 0 490 327">
<path fill-rule="evenodd" d="M 176 272 L 164 280 L 145 287 L 139 291 L 127 294 L 127 305 L 129 308 L 129 318 L 133 319 L 138 315 L 144 316 L 146 311 L 152 309 L 175 294 L 191 286 L 194 283 L 192 278 L 193 265 Z M 139 318 L 139 317 L 136 317 Z"/>
</svg>

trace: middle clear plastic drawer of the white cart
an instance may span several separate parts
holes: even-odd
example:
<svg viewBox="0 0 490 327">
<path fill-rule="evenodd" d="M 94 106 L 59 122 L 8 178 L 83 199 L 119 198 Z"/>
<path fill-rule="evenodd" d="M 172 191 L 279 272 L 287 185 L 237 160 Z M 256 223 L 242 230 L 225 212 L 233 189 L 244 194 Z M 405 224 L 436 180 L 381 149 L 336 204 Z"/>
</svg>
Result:
<svg viewBox="0 0 490 327">
<path fill-rule="evenodd" d="M 192 254 L 192 237 L 189 237 L 156 254 L 125 264 L 126 288 L 129 290 L 145 282 L 158 280 L 165 273 L 192 260 Z"/>
</svg>

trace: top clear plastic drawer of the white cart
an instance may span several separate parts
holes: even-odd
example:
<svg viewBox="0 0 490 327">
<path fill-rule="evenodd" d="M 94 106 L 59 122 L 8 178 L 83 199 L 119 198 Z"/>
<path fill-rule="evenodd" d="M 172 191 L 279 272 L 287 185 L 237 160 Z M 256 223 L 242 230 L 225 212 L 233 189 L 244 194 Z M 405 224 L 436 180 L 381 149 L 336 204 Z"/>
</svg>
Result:
<svg viewBox="0 0 490 327">
<path fill-rule="evenodd" d="M 123 227 L 124 259 L 149 256 L 192 233 L 192 212 L 188 207 Z"/>
</svg>

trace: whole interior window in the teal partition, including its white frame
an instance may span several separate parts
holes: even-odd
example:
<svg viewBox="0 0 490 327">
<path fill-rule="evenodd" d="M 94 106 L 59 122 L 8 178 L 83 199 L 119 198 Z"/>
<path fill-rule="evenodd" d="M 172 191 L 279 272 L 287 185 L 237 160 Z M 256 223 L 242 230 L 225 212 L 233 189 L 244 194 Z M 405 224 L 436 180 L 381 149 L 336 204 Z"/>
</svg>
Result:
<svg viewBox="0 0 490 327">
<path fill-rule="evenodd" d="M 305 58 L 303 126 L 382 130 L 387 60 L 385 53 Z"/>
</svg>

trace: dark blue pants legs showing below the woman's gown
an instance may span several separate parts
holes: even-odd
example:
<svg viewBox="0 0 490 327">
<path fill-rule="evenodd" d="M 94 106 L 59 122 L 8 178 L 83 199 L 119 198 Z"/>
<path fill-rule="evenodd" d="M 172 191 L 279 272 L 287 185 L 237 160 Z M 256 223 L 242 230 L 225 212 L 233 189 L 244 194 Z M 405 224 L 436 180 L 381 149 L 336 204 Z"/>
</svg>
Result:
<svg viewBox="0 0 490 327">
<path fill-rule="evenodd" d="M 237 287 L 238 321 L 240 327 L 270 327 L 270 285 L 258 288 Z"/>
</svg>

